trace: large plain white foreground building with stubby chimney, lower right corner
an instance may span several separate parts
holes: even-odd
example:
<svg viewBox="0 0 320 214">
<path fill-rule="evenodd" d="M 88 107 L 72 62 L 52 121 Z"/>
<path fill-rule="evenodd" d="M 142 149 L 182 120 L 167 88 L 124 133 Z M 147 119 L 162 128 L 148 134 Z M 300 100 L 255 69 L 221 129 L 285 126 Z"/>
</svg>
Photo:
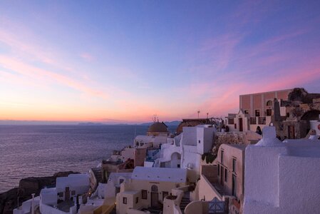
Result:
<svg viewBox="0 0 320 214">
<path fill-rule="evenodd" d="M 314 138 L 311 136 L 311 138 Z M 320 213 L 320 141 L 276 138 L 273 126 L 247 146 L 244 213 Z"/>
</svg>

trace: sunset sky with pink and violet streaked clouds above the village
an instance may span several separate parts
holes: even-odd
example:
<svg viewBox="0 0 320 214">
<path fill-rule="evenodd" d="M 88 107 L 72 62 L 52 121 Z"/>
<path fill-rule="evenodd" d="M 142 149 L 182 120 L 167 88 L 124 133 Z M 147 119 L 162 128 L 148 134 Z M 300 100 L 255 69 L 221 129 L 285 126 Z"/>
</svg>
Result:
<svg viewBox="0 0 320 214">
<path fill-rule="evenodd" d="M 0 1 L 0 120 L 226 116 L 320 93 L 320 1 Z"/>
</svg>

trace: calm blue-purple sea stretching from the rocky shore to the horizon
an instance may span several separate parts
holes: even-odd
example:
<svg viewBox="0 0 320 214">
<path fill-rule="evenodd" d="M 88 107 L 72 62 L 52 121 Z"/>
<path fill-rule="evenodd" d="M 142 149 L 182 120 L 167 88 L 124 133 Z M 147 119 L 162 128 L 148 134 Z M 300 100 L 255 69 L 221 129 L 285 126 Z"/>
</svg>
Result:
<svg viewBox="0 0 320 214">
<path fill-rule="evenodd" d="M 139 125 L 1 125 L 0 193 L 19 186 L 21 178 L 86 173 L 147 131 L 148 126 Z M 169 131 L 174 133 L 175 127 Z"/>
</svg>

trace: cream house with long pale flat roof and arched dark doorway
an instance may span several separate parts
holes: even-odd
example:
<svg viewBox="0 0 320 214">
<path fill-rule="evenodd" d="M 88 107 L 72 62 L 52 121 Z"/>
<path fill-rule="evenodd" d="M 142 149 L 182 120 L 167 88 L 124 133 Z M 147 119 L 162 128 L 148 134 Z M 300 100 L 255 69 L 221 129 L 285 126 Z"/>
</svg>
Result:
<svg viewBox="0 0 320 214">
<path fill-rule="evenodd" d="M 136 167 L 116 196 L 117 213 L 161 207 L 171 190 L 186 185 L 187 169 Z"/>
</svg>

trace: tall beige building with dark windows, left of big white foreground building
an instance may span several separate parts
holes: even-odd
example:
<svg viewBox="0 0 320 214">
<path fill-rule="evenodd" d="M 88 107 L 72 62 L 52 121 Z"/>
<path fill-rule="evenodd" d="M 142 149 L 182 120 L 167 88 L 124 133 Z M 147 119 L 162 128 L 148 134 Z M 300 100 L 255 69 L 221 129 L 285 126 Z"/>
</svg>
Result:
<svg viewBox="0 0 320 214">
<path fill-rule="evenodd" d="M 241 212 L 244 198 L 245 148 L 243 144 L 222 144 L 217 154 L 217 165 L 202 165 L 200 180 L 195 191 L 190 194 L 192 203 L 190 207 L 187 206 L 185 213 L 191 214 L 190 210 L 207 213 L 215 198 L 224 202 L 224 212 Z"/>
</svg>

